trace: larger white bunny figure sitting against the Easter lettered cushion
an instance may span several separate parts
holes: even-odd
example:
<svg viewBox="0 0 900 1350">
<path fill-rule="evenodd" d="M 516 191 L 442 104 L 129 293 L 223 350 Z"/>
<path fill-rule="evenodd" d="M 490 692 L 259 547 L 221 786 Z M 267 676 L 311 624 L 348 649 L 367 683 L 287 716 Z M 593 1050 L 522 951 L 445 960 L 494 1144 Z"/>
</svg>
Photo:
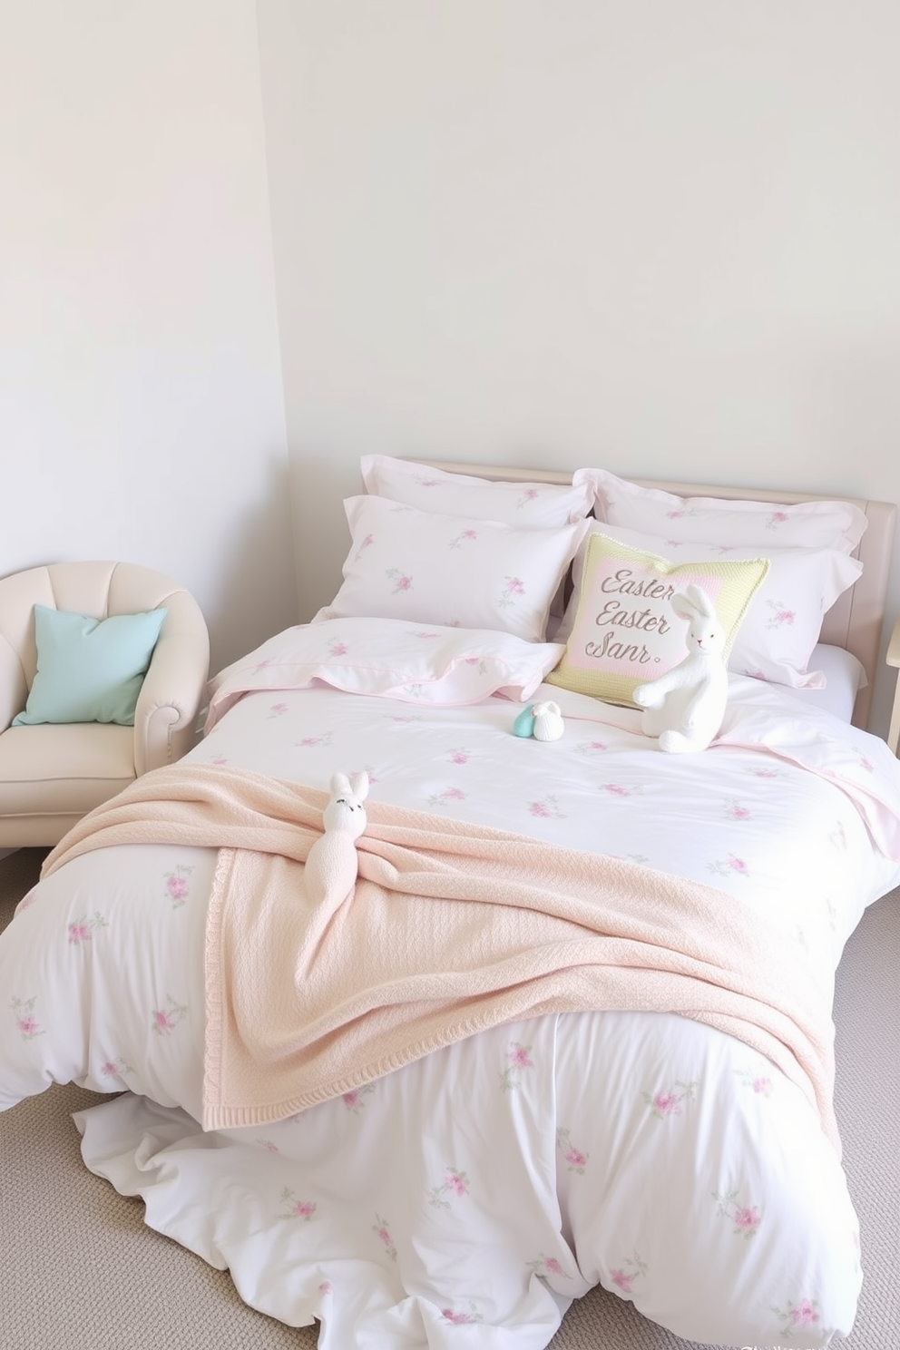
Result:
<svg viewBox="0 0 900 1350">
<path fill-rule="evenodd" d="M 644 709 L 641 730 L 657 736 L 661 751 L 704 751 L 718 736 L 729 699 L 725 632 L 700 586 L 673 595 L 672 609 L 688 621 L 688 655 L 658 679 L 638 684 L 631 697 Z"/>
</svg>

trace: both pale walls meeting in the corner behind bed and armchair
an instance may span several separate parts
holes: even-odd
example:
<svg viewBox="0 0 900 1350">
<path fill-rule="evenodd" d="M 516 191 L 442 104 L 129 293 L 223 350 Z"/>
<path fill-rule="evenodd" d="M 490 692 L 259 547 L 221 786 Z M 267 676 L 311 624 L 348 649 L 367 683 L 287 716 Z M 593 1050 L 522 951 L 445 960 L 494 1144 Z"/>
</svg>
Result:
<svg viewBox="0 0 900 1350">
<path fill-rule="evenodd" d="M 366 450 L 900 498 L 893 0 L 0 22 L 0 574 L 161 567 L 223 664 Z"/>
</svg>

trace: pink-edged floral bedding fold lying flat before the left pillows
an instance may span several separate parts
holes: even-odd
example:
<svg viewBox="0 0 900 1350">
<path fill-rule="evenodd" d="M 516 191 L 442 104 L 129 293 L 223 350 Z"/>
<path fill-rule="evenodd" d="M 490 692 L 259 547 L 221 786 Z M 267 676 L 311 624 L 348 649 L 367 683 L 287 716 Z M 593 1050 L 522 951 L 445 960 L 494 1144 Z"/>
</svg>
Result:
<svg viewBox="0 0 900 1350">
<path fill-rule="evenodd" d="M 410 625 L 402 618 L 332 618 L 289 628 L 209 684 L 204 732 L 254 690 L 328 684 L 406 703 L 459 706 L 491 694 L 524 702 L 563 655 L 559 643 L 526 643 L 487 629 Z"/>
</svg>

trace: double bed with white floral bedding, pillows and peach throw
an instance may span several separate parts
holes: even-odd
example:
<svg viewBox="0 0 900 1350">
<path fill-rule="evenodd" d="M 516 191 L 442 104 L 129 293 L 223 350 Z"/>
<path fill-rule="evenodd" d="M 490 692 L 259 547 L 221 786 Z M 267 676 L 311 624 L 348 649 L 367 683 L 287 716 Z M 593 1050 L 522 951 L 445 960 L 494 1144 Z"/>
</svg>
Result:
<svg viewBox="0 0 900 1350">
<path fill-rule="evenodd" d="M 362 467 L 332 603 L 217 674 L 0 937 L 0 1107 L 109 1094 L 86 1166 L 324 1350 L 541 1350 L 596 1284 L 700 1343 L 846 1336 L 831 999 L 900 884 L 865 729 L 893 508 Z M 737 614 L 700 753 L 630 698 L 683 649 L 641 567 Z M 514 734 L 546 699 L 561 738 Z M 351 771 L 359 879 L 313 896 Z"/>
</svg>

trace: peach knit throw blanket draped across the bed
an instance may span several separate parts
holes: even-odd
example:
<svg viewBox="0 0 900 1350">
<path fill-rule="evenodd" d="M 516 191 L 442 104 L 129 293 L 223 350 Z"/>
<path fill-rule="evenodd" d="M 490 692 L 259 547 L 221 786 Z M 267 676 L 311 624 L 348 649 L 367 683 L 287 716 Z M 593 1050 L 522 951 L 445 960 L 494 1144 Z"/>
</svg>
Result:
<svg viewBox="0 0 900 1350">
<path fill-rule="evenodd" d="M 368 805 L 348 895 L 310 903 L 327 794 L 181 763 L 74 826 L 92 848 L 220 849 L 206 926 L 206 1129 L 282 1119 L 484 1027 L 546 1013 L 679 1013 L 831 1106 L 831 972 L 722 891 L 633 863 Z"/>
</svg>

